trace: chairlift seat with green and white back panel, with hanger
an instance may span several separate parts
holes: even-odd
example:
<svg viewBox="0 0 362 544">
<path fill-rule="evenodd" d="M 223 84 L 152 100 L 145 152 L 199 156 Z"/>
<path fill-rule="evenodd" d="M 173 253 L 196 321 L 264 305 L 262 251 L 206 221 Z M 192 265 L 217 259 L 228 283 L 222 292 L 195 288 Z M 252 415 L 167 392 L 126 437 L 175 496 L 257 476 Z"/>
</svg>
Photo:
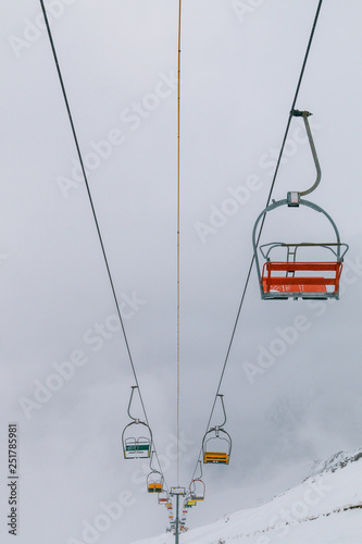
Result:
<svg viewBox="0 0 362 544">
<path fill-rule="evenodd" d="M 150 457 L 150 452 L 152 447 L 152 432 L 151 429 L 145 421 L 140 421 L 137 418 L 134 418 L 129 413 L 129 408 L 134 395 L 135 388 L 138 388 L 136 385 L 132 386 L 132 394 L 128 404 L 128 416 L 133 420 L 128 423 L 122 433 L 122 444 L 123 444 L 123 454 L 125 459 L 145 459 Z M 134 425 L 136 425 L 134 428 Z M 136 432 L 136 428 L 140 426 L 143 431 L 147 432 L 148 436 L 141 435 L 140 432 Z M 130 429 L 132 428 L 132 429 Z M 133 435 L 128 436 L 129 431 L 133 431 Z"/>
</svg>

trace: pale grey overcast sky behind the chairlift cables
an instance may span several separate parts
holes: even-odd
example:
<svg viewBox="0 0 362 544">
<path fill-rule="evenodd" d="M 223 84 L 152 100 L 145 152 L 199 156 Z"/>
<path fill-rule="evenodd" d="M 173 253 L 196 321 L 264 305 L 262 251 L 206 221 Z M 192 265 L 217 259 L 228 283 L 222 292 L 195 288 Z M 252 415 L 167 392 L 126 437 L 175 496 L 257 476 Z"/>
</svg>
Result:
<svg viewBox="0 0 362 544">
<path fill-rule="evenodd" d="M 166 512 L 146 493 L 147 463 L 123 459 L 134 379 L 40 4 L 2 3 L 1 541 L 12 542 L 3 448 L 15 421 L 18 544 L 129 544 L 163 532 Z M 178 1 L 47 3 L 146 409 L 175 485 Z M 183 1 L 180 485 L 199 455 L 316 5 Z M 262 301 L 253 270 L 222 385 L 232 460 L 205 467 L 207 500 L 189 527 L 267 500 L 312 459 L 361 446 L 361 15 L 358 0 L 325 0 L 297 102 L 313 112 L 322 166 L 310 200 L 350 245 L 340 300 Z M 294 120 L 273 198 L 314 178 Z M 309 210 L 276 211 L 263 239 L 294 233 L 325 242 L 330 228 Z"/>
</svg>

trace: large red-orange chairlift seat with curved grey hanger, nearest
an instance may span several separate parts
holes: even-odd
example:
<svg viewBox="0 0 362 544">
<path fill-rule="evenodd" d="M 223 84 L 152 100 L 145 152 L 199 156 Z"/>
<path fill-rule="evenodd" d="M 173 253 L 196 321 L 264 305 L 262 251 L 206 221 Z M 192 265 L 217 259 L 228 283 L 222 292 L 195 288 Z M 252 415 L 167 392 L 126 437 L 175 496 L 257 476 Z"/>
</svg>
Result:
<svg viewBox="0 0 362 544">
<path fill-rule="evenodd" d="M 311 113 L 294 110 L 295 116 L 302 116 L 311 146 L 314 164 L 316 168 L 316 181 L 308 190 L 298 193 L 289 191 L 287 198 L 275 201 L 267 206 L 258 217 L 252 233 L 254 259 L 259 277 L 261 297 L 263 300 L 278 299 L 287 300 L 288 298 L 302 299 L 322 299 L 339 298 L 339 281 L 342 271 L 342 261 L 347 244 L 340 243 L 338 228 L 330 218 L 320 206 L 300 198 L 314 190 L 321 181 L 321 168 L 316 157 L 316 151 L 312 138 L 312 133 L 308 123 L 308 116 Z M 273 242 L 259 247 L 264 263 L 261 269 L 258 254 L 258 243 L 260 230 L 258 228 L 260 221 L 265 218 L 265 214 L 282 207 L 298 208 L 299 206 L 308 207 L 319 213 L 322 213 L 332 224 L 335 239 L 330 243 L 311 242 L 311 243 L 294 243 L 287 244 L 284 242 Z M 277 251 L 284 251 L 285 260 L 272 259 L 272 254 L 275 256 Z M 317 259 L 299 259 L 299 256 L 307 254 L 311 248 L 317 249 Z M 328 259 L 325 259 L 328 256 Z M 315 257 L 315 254 L 314 254 Z"/>
</svg>

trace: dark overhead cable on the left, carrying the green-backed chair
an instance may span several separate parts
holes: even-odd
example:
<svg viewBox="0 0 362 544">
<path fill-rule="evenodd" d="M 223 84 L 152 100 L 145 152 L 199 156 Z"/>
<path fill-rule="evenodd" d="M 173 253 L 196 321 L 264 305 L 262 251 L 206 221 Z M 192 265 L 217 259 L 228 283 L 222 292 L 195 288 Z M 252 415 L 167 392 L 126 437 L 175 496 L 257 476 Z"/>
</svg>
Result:
<svg viewBox="0 0 362 544">
<path fill-rule="evenodd" d="M 133 374 L 134 374 L 134 378 L 135 378 L 136 385 L 138 387 L 139 398 L 140 398 L 141 407 L 142 407 L 142 410 L 143 410 L 143 413 L 145 413 L 145 420 L 146 420 L 147 424 L 149 425 L 149 421 L 148 421 L 148 417 L 147 417 L 147 411 L 146 411 L 143 398 L 142 398 L 142 395 L 141 395 L 141 391 L 140 391 L 140 386 L 139 386 L 139 383 L 138 383 L 138 379 L 137 379 L 137 373 L 136 373 L 134 360 L 133 360 L 133 357 L 132 357 L 132 353 L 130 353 L 130 348 L 129 348 L 129 344 L 128 344 L 126 331 L 125 331 L 123 319 L 122 319 L 122 314 L 121 314 L 118 299 L 117 299 L 117 296 L 116 296 L 116 293 L 115 293 L 115 287 L 114 287 L 114 283 L 113 283 L 113 279 L 112 279 L 112 274 L 111 274 L 110 264 L 109 264 L 109 261 L 108 261 L 108 258 L 107 258 L 107 254 L 105 254 L 105 248 L 104 248 L 104 244 L 103 244 L 102 234 L 101 234 L 99 222 L 98 222 L 98 219 L 97 219 L 96 208 L 95 208 L 92 196 L 91 196 L 91 193 L 90 193 L 90 189 L 89 189 L 88 177 L 87 177 L 85 165 L 84 165 L 84 161 L 83 161 L 83 156 L 82 156 L 80 146 L 79 146 L 79 143 L 78 143 L 78 137 L 77 137 L 77 134 L 76 134 L 76 131 L 75 131 L 73 115 L 72 115 L 70 102 L 68 102 L 68 99 L 67 99 L 67 95 L 66 95 L 66 90 L 65 90 L 65 85 L 64 85 L 62 72 L 61 72 L 61 69 L 60 69 L 60 64 L 59 64 L 59 60 L 58 60 L 58 55 L 57 55 L 57 50 L 55 50 L 54 41 L 53 41 L 53 38 L 52 38 L 50 25 L 49 25 L 49 20 L 48 20 L 47 11 L 46 11 L 46 8 L 45 8 L 43 0 L 39 0 L 39 1 L 40 1 L 41 11 L 42 11 L 42 15 L 43 15 L 46 27 L 47 27 L 47 33 L 48 33 L 48 37 L 49 37 L 49 42 L 50 42 L 50 47 L 51 47 L 51 50 L 52 50 L 52 54 L 53 54 L 53 60 L 54 60 L 57 72 L 58 72 L 58 76 L 59 76 L 59 82 L 60 82 L 60 85 L 61 85 L 61 88 L 62 88 L 62 94 L 63 94 L 63 98 L 64 98 L 64 102 L 65 102 L 65 108 L 66 108 L 67 116 L 68 116 L 68 120 L 70 120 L 70 124 L 71 124 L 71 128 L 72 128 L 72 134 L 73 134 L 74 143 L 75 143 L 75 147 L 76 147 L 76 150 L 77 150 L 78 159 L 79 159 L 83 177 L 84 177 L 84 181 L 85 181 L 85 184 L 86 184 L 86 189 L 87 189 L 87 194 L 88 194 L 88 198 L 89 198 L 89 203 L 90 203 L 92 217 L 93 217 L 95 224 L 96 224 L 97 234 L 98 234 L 99 243 L 100 243 L 100 246 L 101 246 L 101 251 L 102 251 L 103 259 L 104 259 L 108 277 L 109 277 L 109 281 L 110 281 L 110 284 L 111 284 L 111 289 L 112 289 L 112 294 L 113 294 L 113 298 L 114 298 L 114 302 L 115 302 L 117 316 L 118 316 L 118 319 L 120 319 L 120 323 L 121 323 L 121 329 L 122 329 L 124 342 L 125 342 L 125 345 L 126 345 L 126 350 L 127 350 L 129 363 L 130 363 L 130 367 L 132 367 L 132 371 L 133 371 Z M 155 450 L 155 447 L 154 447 L 154 450 Z M 162 470 L 157 452 L 154 452 L 154 455 L 155 455 L 155 458 L 157 458 L 158 463 L 160 466 L 160 470 Z"/>
</svg>

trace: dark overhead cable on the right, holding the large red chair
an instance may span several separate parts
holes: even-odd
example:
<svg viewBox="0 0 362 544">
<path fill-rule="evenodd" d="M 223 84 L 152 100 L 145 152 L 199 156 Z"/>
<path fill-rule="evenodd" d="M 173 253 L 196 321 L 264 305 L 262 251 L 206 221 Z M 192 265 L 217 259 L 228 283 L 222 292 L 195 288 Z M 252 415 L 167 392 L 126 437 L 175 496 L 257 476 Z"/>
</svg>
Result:
<svg viewBox="0 0 362 544">
<path fill-rule="evenodd" d="M 319 21 L 319 16 L 320 16 L 320 11 L 321 11 L 321 8 L 322 8 L 322 3 L 323 3 L 323 0 L 319 0 L 319 4 L 317 4 L 317 8 L 316 8 L 316 12 L 315 12 L 315 16 L 314 16 L 314 21 L 313 21 L 311 34 L 310 34 L 308 46 L 307 46 L 307 50 L 305 50 L 305 53 L 304 53 L 304 59 L 303 59 L 302 67 L 301 67 L 301 71 L 300 71 L 300 75 L 299 75 L 299 79 L 298 79 L 296 92 L 295 92 L 295 96 L 294 96 L 294 99 L 292 99 L 292 103 L 291 103 L 291 108 L 290 108 L 290 111 L 289 111 L 287 126 L 286 126 L 284 138 L 283 138 L 283 141 L 282 141 L 280 151 L 279 151 L 278 159 L 277 159 L 277 162 L 276 162 L 275 172 L 274 172 L 274 175 L 273 175 L 271 188 L 270 188 L 270 191 L 269 191 L 269 195 L 267 195 L 266 207 L 269 206 L 269 203 L 271 201 L 273 189 L 274 189 L 274 185 L 275 185 L 275 181 L 276 181 L 276 177 L 277 177 L 277 174 L 278 174 L 278 171 L 279 171 L 279 165 L 280 165 L 280 161 L 282 161 L 282 157 L 283 157 L 285 144 L 286 144 L 286 140 L 287 140 L 287 136 L 288 136 L 288 132 L 289 132 L 289 127 L 290 127 L 290 122 L 291 122 L 291 119 L 294 116 L 294 111 L 295 111 L 297 98 L 298 98 L 298 95 L 299 95 L 301 82 L 302 82 L 302 78 L 303 78 L 303 75 L 304 75 L 304 70 L 305 70 L 307 61 L 308 61 L 308 58 L 309 58 L 310 49 L 311 49 L 311 46 L 312 46 L 312 41 L 313 41 L 313 37 L 314 37 L 314 32 L 315 32 L 316 23 Z M 261 221 L 261 225 L 260 225 L 260 230 L 259 230 L 259 234 L 258 234 L 258 238 L 257 238 L 257 240 L 258 240 L 257 245 L 258 245 L 258 243 L 260 240 L 260 236 L 261 236 L 262 231 L 263 231 L 264 222 L 265 222 L 265 214 L 263 215 L 263 219 Z M 230 349 L 232 349 L 234 337 L 235 337 L 235 332 L 236 332 L 236 329 L 237 329 L 237 325 L 238 325 L 238 322 L 239 322 L 239 318 L 240 318 L 240 313 L 241 313 L 241 309 L 242 309 L 245 296 L 246 296 L 247 288 L 248 288 L 248 285 L 249 285 L 249 280 L 250 280 L 250 275 L 251 275 L 253 263 L 254 263 L 254 255 L 252 256 L 251 261 L 250 261 L 249 270 L 248 270 L 248 273 L 247 273 L 247 279 L 246 279 L 244 290 L 242 290 L 242 295 L 241 295 L 241 300 L 240 300 L 239 308 L 238 308 L 238 311 L 237 311 L 237 314 L 236 314 L 236 320 L 235 320 L 235 323 L 234 323 L 234 326 L 233 326 L 232 336 L 230 336 L 230 339 L 229 339 L 229 343 L 228 343 L 225 361 L 224 361 L 224 364 L 223 364 L 223 368 L 222 368 L 222 372 L 221 372 L 221 376 L 220 376 L 217 390 L 216 390 L 216 393 L 215 393 L 215 398 L 214 398 L 214 401 L 213 401 L 213 405 L 212 405 L 212 408 L 211 408 L 211 413 L 210 413 L 210 418 L 209 418 L 209 421 L 208 421 L 208 425 L 207 425 L 207 431 L 205 432 L 208 432 L 208 430 L 210 428 L 210 422 L 211 422 L 211 419 L 212 419 L 212 416 L 213 416 L 213 412 L 214 412 L 214 409 L 215 409 L 215 404 L 216 404 L 216 400 L 217 400 L 217 395 L 220 394 L 220 388 L 221 388 L 221 385 L 222 385 L 222 382 L 223 382 L 223 379 L 224 379 L 226 366 L 227 366 L 227 362 L 228 362 Z M 202 446 L 200 448 L 199 457 L 198 457 L 198 460 L 196 462 L 196 467 L 195 467 L 191 480 L 194 479 L 195 473 L 197 471 L 198 463 L 199 463 L 199 460 L 201 458 L 201 455 L 202 455 Z"/>
</svg>

